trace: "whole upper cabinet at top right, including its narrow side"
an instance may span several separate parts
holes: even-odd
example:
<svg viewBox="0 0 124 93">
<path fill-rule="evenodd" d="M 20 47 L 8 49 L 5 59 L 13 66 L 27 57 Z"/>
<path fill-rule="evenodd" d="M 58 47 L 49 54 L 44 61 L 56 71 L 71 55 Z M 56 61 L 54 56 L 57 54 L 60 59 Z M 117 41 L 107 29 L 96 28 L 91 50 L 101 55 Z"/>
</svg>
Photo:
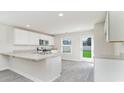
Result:
<svg viewBox="0 0 124 93">
<path fill-rule="evenodd" d="M 110 11 L 105 20 L 105 36 L 107 41 L 124 41 L 124 12 Z"/>
</svg>

